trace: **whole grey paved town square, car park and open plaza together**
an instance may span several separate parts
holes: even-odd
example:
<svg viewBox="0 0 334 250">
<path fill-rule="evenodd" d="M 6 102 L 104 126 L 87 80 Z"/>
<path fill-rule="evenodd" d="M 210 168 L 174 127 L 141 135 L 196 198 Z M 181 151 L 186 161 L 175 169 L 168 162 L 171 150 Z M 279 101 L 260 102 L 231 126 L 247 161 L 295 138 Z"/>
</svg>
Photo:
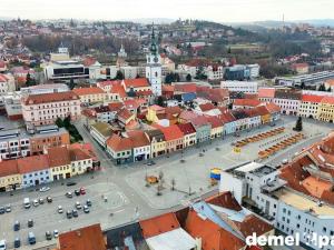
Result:
<svg viewBox="0 0 334 250">
<path fill-rule="evenodd" d="M 90 142 L 101 160 L 101 171 L 91 174 L 84 174 L 71 178 L 70 181 L 77 182 L 76 186 L 67 187 L 61 181 L 50 183 L 51 188 L 47 192 L 39 192 L 32 189 L 18 190 L 13 196 L 0 193 L 0 206 L 11 204 L 10 213 L 0 214 L 0 239 L 6 239 L 8 248 L 12 249 L 16 237 L 21 239 L 23 247 L 20 249 L 31 249 L 28 246 L 28 232 L 32 231 L 37 238 L 36 248 L 50 246 L 56 242 L 46 240 L 46 231 L 59 232 L 75 230 L 92 223 L 100 223 L 104 230 L 132 222 L 144 218 L 149 218 L 176 209 L 179 206 L 188 206 L 190 200 L 208 192 L 217 190 L 217 186 L 212 187 L 209 171 L 212 168 L 229 168 L 245 161 L 257 159 L 257 153 L 263 148 L 295 133 L 293 127 L 296 118 L 284 117 L 277 122 L 277 127 L 284 126 L 284 133 L 265 140 L 249 143 L 242 148 L 240 153 L 234 152 L 233 143 L 245 137 L 254 136 L 261 132 L 272 130 L 273 127 L 264 126 L 250 131 L 244 131 L 240 137 L 228 136 L 216 139 L 215 141 L 199 147 L 194 147 L 184 151 L 184 153 L 174 153 L 168 158 L 161 157 L 154 159 L 155 164 L 147 166 L 147 162 L 132 163 L 129 166 L 115 166 L 106 157 L 106 152 L 91 140 L 85 130 L 80 131 L 87 142 Z M 331 124 L 316 121 L 304 120 L 303 132 L 306 139 L 301 142 L 275 153 L 273 157 L 264 160 L 264 163 L 277 166 L 283 159 L 289 159 L 296 151 L 320 140 L 331 130 Z M 332 128 L 333 129 L 333 128 Z M 80 130 L 80 127 L 79 127 Z M 183 160 L 184 162 L 181 162 Z M 157 196 L 157 186 L 146 187 L 146 176 L 159 176 L 164 173 L 164 189 L 161 196 Z M 171 191 L 171 180 L 175 180 L 175 191 Z M 223 180 L 224 181 L 224 180 Z M 85 187 L 86 194 L 69 199 L 66 192 L 73 192 L 75 189 Z M 190 193 L 190 196 L 189 196 Z M 52 203 L 43 203 L 30 209 L 23 208 L 23 199 L 30 198 L 30 201 L 40 197 L 51 196 Z M 105 202 L 102 196 L 108 201 Z M 75 209 L 75 203 L 79 201 L 85 203 L 90 199 L 92 206 L 89 213 L 78 212 L 78 218 L 67 219 L 66 211 Z M 63 213 L 59 214 L 58 206 L 62 206 Z M 35 221 L 32 228 L 27 227 L 29 219 Z M 21 229 L 13 231 L 13 223 L 18 220 Z"/>
</svg>

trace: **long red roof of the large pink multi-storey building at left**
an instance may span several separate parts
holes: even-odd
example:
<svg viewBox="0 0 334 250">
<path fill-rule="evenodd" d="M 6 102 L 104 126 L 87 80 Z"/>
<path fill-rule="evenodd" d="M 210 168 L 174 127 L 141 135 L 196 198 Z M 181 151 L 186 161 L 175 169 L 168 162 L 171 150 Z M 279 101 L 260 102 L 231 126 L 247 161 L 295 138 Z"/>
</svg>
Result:
<svg viewBox="0 0 334 250">
<path fill-rule="evenodd" d="M 67 92 L 31 94 L 26 99 L 24 103 L 41 104 L 41 103 L 70 101 L 70 100 L 78 100 L 78 99 L 79 97 L 75 92 L 67 91 Z"/>
</svg>

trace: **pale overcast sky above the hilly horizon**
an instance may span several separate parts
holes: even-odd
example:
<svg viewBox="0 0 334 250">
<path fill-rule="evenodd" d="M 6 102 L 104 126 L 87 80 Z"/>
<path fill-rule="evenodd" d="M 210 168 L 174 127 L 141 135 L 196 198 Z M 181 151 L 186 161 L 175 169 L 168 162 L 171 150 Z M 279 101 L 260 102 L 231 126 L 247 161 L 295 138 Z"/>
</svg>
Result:
<svg viewBox="0 0 334 250">
<path fill-rule="evenodd" d="M 128 20 L 205 19 L 220 22 L 326 19 L 334 0 L 0 0 L 0 17 Z"/>
</svg>

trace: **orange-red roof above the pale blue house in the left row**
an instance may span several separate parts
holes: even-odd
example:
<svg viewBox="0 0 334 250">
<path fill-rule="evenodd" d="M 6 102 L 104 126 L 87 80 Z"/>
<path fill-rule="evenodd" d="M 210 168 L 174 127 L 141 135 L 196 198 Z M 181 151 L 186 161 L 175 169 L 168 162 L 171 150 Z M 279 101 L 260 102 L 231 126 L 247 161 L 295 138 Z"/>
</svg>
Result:
<svg viewBox="0 0 334 250">
<path fill-rule="evenodd" d="M 20 173 L 40 171 L 49 168 L 48 156 L 32 156 L 18 159 Z"/>
</svg>

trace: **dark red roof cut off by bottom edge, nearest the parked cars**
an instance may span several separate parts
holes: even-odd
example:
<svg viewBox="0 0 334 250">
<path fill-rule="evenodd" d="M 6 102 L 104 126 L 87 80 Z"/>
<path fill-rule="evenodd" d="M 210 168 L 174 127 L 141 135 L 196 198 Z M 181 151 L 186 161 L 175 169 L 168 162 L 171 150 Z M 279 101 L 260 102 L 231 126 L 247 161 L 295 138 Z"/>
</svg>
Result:
<svg viewBox="0 0 334 250">
<path fill-rule="evenodd" d="M 60 233 L 59 250 L 107 250 L 100 224 Z"/>
</svg>

